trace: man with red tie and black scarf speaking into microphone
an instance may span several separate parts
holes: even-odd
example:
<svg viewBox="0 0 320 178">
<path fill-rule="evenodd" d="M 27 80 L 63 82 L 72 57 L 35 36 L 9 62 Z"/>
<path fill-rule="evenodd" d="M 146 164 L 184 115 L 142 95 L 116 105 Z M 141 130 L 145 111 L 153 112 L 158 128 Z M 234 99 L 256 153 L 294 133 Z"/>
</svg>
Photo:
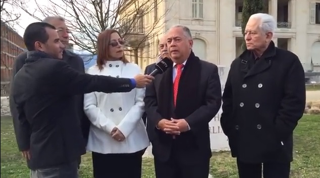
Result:
<svg viewBox="0 0 320 178">
<path fill-rule="evenodd" d="M 172 66 L 146 86 L 144 98 L 156 178 L 207 178 L 208 123 L 222 97 L 218 67 L 192 52 L 189 28 L 176 25 L 166 37 Z"/>
</svg>

